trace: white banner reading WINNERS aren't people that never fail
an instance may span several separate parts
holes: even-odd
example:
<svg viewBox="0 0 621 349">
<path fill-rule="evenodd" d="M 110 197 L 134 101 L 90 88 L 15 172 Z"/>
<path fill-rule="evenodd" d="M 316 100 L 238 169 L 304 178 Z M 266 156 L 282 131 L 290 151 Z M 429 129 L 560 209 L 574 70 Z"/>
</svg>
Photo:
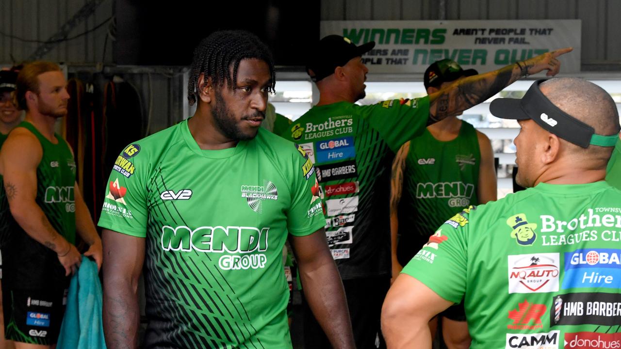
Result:
<svg viewBox="0 0 621 349">
<path fill-rule="evenodd" d="M 374 41 L 363 61 L 370 73 L 424 73 L 450 58 L 479 73 L 556 48 L 561 71 L 580 71 L 581 20 L 322 20 L 321 37 L 337 34 L 356 45 Z"/>
</svg>

